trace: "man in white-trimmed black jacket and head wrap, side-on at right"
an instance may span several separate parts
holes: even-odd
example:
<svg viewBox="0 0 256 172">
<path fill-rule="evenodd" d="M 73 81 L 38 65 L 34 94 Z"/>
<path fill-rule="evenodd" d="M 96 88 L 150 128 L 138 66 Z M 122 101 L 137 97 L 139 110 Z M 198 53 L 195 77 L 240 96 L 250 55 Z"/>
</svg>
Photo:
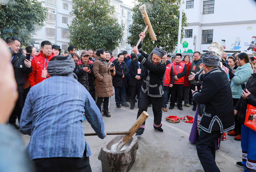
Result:
<svg viewBox="0 0 256 172">
<path fill-rule="evenodd" d="M 196 143 L 198 158 L 206 172 L 220 172 L 215 162 L 215 140 L 222 133 L 234 128 L 232 92 L 226 73 L 218 68 L 219 57 L 206 52 L 202 55 L 205 74 L 192 73 L 196 81 L 202 82 L 200 92 L 193 91 L 194 101 L 204 104 L 204 112 L 198 123 L 199 138 Z M 190 75 L 191 76 L 191 75 Z M 189 79 L 192 80 L 193 77 Z"/>
</svg>

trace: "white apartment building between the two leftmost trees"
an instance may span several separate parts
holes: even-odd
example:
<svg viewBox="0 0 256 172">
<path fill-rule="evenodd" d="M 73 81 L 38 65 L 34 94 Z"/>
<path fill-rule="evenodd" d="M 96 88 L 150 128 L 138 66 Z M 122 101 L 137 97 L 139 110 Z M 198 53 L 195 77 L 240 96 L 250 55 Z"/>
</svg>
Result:
<svg viewBox="0 0 256 172">
<path fill-rule="evenodd" d="M 32 39 L 37 49 L 44 40 L 60 45 L 61 49 L 68 49 L 68 25 L 71 24 L 72 0 L 44 0 L 43 6 L 48 8 L 48 17 L 44 26 Z M 56 30 L 57 28 L 57 30 Z"/>
</svg>

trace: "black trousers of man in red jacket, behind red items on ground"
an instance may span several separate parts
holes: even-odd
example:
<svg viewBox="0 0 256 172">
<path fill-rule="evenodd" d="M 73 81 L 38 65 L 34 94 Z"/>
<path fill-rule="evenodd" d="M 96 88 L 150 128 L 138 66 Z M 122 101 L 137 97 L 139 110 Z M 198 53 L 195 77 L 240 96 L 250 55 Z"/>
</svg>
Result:
<svg viewBox="0 0 256 172">
<path fill-rule="evenodd" d="M 182 107 L 182 97 L 183 97 L 184 85 L 183 84 L 174 84 L 171 90 L 171 101 L 170 107 L 175 105 L 175 97 L 178 97 L 178 107 Z"/>
</svg>

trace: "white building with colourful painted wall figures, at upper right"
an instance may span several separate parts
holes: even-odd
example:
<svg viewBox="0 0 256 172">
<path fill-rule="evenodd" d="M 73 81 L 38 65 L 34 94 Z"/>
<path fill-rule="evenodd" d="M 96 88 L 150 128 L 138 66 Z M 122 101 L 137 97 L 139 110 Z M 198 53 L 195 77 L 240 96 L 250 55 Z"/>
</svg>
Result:
<svg viewBox="0 0 256 172">
<path fill-rule="evenodd" d="M 224 51 L 252 54 L 256 43 L 256 2 L 254 0 L 184 0 L 188 18 L 181 52 L 203 52 L 212 42 Z"/>
</svg>

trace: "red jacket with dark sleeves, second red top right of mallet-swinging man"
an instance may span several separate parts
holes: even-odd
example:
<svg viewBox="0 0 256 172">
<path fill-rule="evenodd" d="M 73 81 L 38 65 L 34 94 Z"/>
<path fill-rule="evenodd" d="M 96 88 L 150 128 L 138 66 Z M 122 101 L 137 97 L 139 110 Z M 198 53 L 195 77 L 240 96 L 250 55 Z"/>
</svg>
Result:
<svg viewBox="0 0 256 172">
<path fill-rule="evenodd" d="M 187 67 L 186 64 L 183 63 L 182 61 L 177 64 L 176 61 L 172 63 L 173 71 L 174 71 L 174 76 L 177 75 L 178 80 L 174 79 L 174 84 L 184 84 L 184 76 L 187 73 Z"/>
</svg>

